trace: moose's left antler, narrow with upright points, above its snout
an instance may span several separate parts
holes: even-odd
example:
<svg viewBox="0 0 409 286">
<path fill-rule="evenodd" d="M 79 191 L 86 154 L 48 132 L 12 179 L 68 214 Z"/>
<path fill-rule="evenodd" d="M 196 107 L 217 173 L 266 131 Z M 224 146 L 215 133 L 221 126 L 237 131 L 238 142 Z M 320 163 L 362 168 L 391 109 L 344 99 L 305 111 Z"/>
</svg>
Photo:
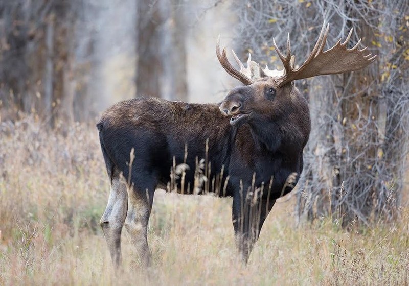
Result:
<svg viewBox="0 0 409 286">
<path fill-rule="evenodd" d="M 241 81 L 244 85 L 251 85 L 254 83 L 254 79 L 252 79 L 252 74 L 254 71 L 257 70 L 260 73 L 258 64 L 252 61 L 252 55 L 248 53 L 247 59 L 247 67 L 244 67 L 244 64 L 239 60 L 236 53 L 232 50 L 234 59 L 236 60 L 237 64 L 240 66 L 240 70 L 237 70 L 232 66 L 230 61 L 227 58 L 226 48 L 223 51 L 220 51 L 220 35 L 217 37 L 217 44 L 216 44 L 216 55 L 219 59 L 221 66 L 228 72 L 229 75 Z M 254 68 L 257 66 L 257 68 Z M 252 72 L 253 71 L 253 72 Z M 258 76 L 260 77 L 260 76 Z"/>
</svg>

